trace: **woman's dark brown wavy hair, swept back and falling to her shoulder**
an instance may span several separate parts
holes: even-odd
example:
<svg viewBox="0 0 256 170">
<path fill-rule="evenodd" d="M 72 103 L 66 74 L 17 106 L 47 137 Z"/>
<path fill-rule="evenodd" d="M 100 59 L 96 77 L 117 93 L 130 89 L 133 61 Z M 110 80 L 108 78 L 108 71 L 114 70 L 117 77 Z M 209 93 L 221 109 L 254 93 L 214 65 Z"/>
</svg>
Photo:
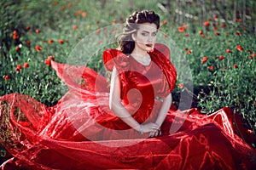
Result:
<svg viewBox="0 0 256 170">
<path fill-rule="evenodd" d="M 154 23 L 159 29 L 160 27 L 160 16 L 154 11 L 143 10 L 140 12 L 134 12 L 127 19 L 124 27 L 123 33 L 119 34 L 117 37 L 118 48 L 124 54 L 131 54 L 135 47 L 135 42 L 133 41 L 131 34 L 137 33 L 139 29 L 138 24 L 143 23 Z"/>
</svg>

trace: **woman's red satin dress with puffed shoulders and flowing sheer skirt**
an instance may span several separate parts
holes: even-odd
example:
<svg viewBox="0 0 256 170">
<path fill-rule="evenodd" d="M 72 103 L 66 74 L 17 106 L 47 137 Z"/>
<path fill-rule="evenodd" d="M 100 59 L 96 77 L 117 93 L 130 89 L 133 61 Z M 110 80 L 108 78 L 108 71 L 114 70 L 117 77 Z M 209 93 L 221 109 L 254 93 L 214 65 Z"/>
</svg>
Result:
<svg viewBox="0 0 256 170">
<path fill-rule="evenodd" d="M 150 65 L 116 49 L 103 53 L 107 70 L 119 71 L 123 105 L 140 123 L 154 122 L 177 77 L 166 46 L 148 54 Z M 148 138 L 109 109 L 105 77 L 85 66 L 51 65 L 69 88 L 57 105 L 23 94 L 0 98 L 1 144 L 13 156 L 2 169 L 255 168 L 253 135 L 229 107 L 203 115 L 172 106 L 162 135 Z"/>
</svg>

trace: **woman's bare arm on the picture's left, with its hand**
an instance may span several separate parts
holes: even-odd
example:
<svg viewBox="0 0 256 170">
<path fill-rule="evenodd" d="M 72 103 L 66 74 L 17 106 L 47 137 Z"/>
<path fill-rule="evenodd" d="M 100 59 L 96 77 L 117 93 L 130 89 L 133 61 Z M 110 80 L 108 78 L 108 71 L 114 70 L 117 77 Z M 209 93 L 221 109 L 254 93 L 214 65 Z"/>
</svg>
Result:
<svg viewBox="0 0 256 170">
<path fill-rule="evenodd" d="M 110 96 L 109 96 L 109 107 L 123 122 L 125 122 L 130 127 L 134 128 L 140 133 L 148 133 L 157 128 L 155 123 L 148 123 L 146 125 L 140 125 L 125 109 L 124 105 L 121 103 L 120 99 L 120 81 L 119 74 L 115 67 L 113 67 L 113 72 L 110 82 Z"/>
</svg>

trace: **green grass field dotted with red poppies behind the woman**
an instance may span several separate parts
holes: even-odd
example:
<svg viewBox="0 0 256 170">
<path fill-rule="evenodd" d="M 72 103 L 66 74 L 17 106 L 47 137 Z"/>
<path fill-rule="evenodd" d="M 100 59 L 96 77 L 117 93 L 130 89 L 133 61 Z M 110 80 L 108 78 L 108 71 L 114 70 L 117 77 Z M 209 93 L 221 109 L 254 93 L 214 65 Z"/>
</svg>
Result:
<svg viewBox="0 0 256 170">
<path fill-rule="evenodd" d="M 203 112 L 211 113 L 229 106 L 241 116 L 245 126 L 256 133 L 253 26 L 242 25 L 240 20 L 224 23 L 210 13 L 204 26 L 191 20 L 177 24 L 175 15 L 162 10 L 158 1 L 38 2 L 0 3 L 0 96 L 27 94 L 45 105 L 55 105 L 67 88 L 47 65 L 49 56 L 67 63 L 73 49 L 85 39 L 84 42 L 91 42 L 85 44 L 86 47 L 96 51 L 90 61 L 82 63 L 100 71 L 102 50 L 115 45 L 108 42 L 109 35 L 113 35 L 111 29 L 123 25 L 134 10 L 148 8 L 160 14 L 158 39 L 173 47 L 172 62 L 179 69 L 173 103 L 178 106 L 181 94 L 189 94 L 192 106 Z M 106 29 L 107 26 L 111 29 Z M 86 37 L 93 41 L 87 41 Z M 176 54 L 183 59 L 177 59 Z M 190 76 L 186 76 L 187 66 Z"/>
</svg>

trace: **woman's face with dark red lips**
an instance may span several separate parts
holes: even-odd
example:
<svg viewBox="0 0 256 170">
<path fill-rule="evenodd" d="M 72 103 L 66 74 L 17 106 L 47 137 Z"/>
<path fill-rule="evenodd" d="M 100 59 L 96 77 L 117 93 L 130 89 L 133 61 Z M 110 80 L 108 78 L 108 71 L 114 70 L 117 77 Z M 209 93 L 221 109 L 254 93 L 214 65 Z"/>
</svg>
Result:
<svg viewBox="0 0 256 170">
<path fill-rule="evenodd" d="M 139 25 L 137 34 L 134 35 L 135 48 L 143 51 L 150 51 L 154 48 L 157 26 L 154 23 L 143 23 Z"/>
</svg>

